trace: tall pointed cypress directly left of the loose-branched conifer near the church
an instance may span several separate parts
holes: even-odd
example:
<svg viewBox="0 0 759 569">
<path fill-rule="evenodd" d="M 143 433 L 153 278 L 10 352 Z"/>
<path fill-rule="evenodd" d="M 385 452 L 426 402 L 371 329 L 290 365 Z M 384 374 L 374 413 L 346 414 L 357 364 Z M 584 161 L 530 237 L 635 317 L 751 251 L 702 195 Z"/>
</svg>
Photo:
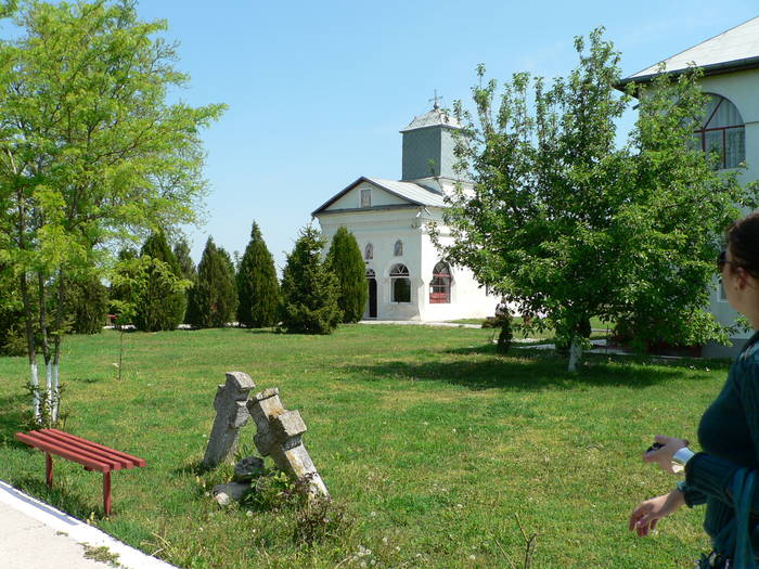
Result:
<svg viewBox="0 0 759 569">
<path fill-rule="evenodd" d="M 258 223 L 253 222 L 250 241 L 237 269 L 237 321 L 248 327 L 261 328 L 276 324 L 280 284 L 274 258 L 263 243 Z"/>
</svg>

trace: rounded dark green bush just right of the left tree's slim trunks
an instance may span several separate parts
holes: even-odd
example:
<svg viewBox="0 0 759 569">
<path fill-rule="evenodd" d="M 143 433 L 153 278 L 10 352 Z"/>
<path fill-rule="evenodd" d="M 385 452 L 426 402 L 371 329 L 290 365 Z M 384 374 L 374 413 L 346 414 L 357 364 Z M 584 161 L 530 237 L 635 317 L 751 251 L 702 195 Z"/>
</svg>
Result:
<svg viewBox="0 0 759 569">
<path fill-rule="evenodd" d="M 103 331 L 108 314 L 108 289 L 98 275 L 69 276 L 65 301 L 69 332 L 100 334 Z"/>
</svg>

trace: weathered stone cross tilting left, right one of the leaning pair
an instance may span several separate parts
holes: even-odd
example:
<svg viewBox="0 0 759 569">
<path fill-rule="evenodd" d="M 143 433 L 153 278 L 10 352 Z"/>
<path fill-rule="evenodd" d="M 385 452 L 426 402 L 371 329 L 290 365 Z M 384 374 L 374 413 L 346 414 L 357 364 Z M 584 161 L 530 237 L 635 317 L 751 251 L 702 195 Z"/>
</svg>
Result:
<svg viewBox="0 0 759 569">
<path fill-rule="evenodd" d="M 306 424 L 300 413 L 287 411 L 282 405 L 279 393 L 274 387 L 256 393 L 247 402 L 250 416 L 256 422 L 256 448 L 261 455 L 271 456 L 276 467 L 291 478 L 306 478 L 310 492 L 329 496 L 326 486 L 303 443 Z"/>
</svg>

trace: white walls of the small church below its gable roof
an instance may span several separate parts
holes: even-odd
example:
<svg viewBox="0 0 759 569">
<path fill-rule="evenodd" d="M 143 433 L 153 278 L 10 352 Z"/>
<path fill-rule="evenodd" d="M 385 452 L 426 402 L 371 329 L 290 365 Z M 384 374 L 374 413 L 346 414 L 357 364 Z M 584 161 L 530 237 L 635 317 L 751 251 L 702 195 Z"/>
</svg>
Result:
<svg viewBox="0 0 759 569">
<path fill-rule="evenodd" d="M 429 240 L 426 222 L 440 219 L 440 212 L 425 208 L 389 209 L 381 211 L 350 211 L 318 216 L 322 235 L 327 240 L 329 250 L 332 237 L 340 225 L 345 225 L 355 236 L 363 254 L 366 243 L 374 247 L 373 259 L 364 259 L 366 269 L 372 269 L 377 281 L 377 320 L 419 320 L 435 322 L 463 318 L 485 318 L 492 315 L 498 298 L 485 294 L 472 273 L 466 269 L 451 267 L 453 284 L 451 302 L 429 303 L 429 283 L 433 268 L 440 260 L 440 254 Z M 403 255 L 395 256 L 395 244 L 403 243 Z M 390 298 L 390 270 L 396 263 L 403 263 L 411 281 L 411 302 L 393 302 Z"/>
</svg>

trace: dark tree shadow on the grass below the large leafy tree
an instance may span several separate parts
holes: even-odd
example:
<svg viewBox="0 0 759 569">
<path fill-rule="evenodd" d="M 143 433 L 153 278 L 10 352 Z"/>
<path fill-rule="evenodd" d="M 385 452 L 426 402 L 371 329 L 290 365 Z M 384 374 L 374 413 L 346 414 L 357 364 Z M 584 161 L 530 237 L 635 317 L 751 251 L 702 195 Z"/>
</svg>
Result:
<svg viewBox="0 0 759 569">
<path fill-rule="evenodd" d="M 450 351 L 448 353 L 451 353 Z M 472 354 L 473 350 L 453 353 Z M 614 360 L 608 355 L 588 354 L 577 373 L 566 371 L 567 361 L 555 353 L 536 351 L 509 352 L 476 361 L 434 361 L 414 363 L 386 361 L 378 364 L 352 365 L 348 371 L 366 378 L 396 378 L 420 382 L 443 382 L 466 387 L 473 391 L 486 389 L 515 389 L 540 391 L 543 389 L 573 389 L 578 385 L 609 387 L 620 386 L 643 389 L 682 377 L 685 370 L 674 365 L 644 365 L 643 362 Z M 638 363 L 638 365 L 630 365 Z"/>
</svg>

